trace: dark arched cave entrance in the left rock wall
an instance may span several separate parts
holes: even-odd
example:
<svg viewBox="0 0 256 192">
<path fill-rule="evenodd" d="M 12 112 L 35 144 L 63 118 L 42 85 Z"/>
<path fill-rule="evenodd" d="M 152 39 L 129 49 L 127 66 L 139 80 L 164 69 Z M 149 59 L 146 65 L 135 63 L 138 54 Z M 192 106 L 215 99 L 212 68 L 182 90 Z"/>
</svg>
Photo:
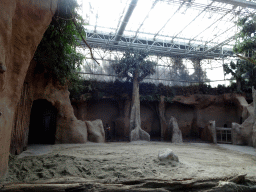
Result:
<svg viewBox="0 0 256 192">
<path fill-rule="evenodd" d="M 33 102 L 30 115 L 28 144 L 54 144 L 57 110 L 50 102 Z"/>
</svg>

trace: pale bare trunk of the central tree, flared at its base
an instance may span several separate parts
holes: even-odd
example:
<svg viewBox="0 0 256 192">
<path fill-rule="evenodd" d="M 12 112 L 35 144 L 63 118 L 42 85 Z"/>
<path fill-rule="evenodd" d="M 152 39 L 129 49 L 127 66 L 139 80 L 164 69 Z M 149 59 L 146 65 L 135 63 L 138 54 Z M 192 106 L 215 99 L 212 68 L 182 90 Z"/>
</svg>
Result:
<svg viewBox="0 0 256 192">
<path fill-rule="evenodd" d="M 150 135 L 141 129 L 138 72 L 135 72 L 133 77 L 133 92 L 131 106 L 132 109 L 130 115 L 130 141 L 150 141 Z"/>
</svg>

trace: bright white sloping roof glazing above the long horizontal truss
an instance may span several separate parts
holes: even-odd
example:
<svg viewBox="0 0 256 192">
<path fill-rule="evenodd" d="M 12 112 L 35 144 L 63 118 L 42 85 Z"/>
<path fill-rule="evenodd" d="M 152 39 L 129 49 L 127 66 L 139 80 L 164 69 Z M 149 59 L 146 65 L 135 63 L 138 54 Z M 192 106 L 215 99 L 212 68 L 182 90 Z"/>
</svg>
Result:
<svg viewBox="0 0 256 192">
<path fill-rule="evenodd" d="M 246 2 L 245 0 L 232 0 Z M 193 45 L 207 51 L 232 50 L 239 17 L 254 9 L 227 4 L 224 0 L 80 0 L 88 32 L 115 37 L 135 2 L 122 37 L 152 42 Z M 250 1 L 255 3 L 255 1 Z M 111 39 L 113 40 L 113 38 Z M 124 41 L 124 40 L 123 40 Z M 126 40 L 127 41 L 127 40 Z M 152 46 L 151 46 L 152 48 Z"/>
</svg>

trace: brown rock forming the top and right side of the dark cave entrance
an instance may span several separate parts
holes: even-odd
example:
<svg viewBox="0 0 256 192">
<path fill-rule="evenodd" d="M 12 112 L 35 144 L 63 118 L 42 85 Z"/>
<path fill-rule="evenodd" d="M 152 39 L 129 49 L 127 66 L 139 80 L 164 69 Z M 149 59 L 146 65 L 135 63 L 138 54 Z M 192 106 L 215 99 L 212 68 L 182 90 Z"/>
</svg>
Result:
<svg viewBox="0 0 256 192">
<path fill-rule="evenodd" d="M 77 120 L 66 86 L 60 86 L 45 75 L 35 74 L 36 63 L 31 62 L 25 82 L 30 87 L 30 99 L 46 99 L 57 109 L 55 143 L 85 143 L 87 129 L 83 121 Z"/>
</svg>

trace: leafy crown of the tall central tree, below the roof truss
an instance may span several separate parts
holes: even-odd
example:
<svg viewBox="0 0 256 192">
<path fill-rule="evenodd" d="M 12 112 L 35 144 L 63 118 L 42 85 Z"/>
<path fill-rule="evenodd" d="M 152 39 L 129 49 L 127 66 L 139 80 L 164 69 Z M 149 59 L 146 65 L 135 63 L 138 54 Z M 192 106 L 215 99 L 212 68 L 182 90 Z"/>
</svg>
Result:
<svg viewBox="0 0 256 192">
<path fill-rule="evenodd" d="M 113 63 L 113 68 L 120 79 L 131 81 L 137 75 L 138 82 L 141 82 L 155 73 L 156 63 L 147 58 L 148 53 L 143 50 L 128 49 L 120 61 Z"/>
</svg>

